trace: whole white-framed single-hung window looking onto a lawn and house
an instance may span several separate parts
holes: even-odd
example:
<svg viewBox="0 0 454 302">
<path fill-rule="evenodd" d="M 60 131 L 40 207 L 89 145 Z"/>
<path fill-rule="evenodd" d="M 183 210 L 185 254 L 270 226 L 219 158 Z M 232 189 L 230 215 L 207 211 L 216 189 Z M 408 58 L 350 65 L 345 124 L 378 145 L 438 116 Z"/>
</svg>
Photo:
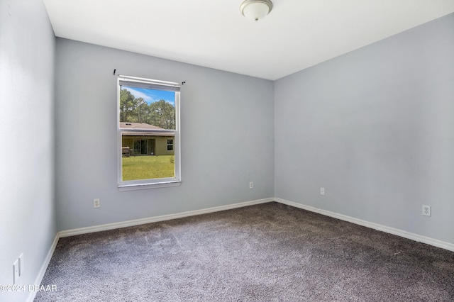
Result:
<svg viewBox="0 0 454 302">
<path fill-rule="evenodd" d="M 180 184 L 179 85 L 118 76 L 118 188 Z"/>
</svg>

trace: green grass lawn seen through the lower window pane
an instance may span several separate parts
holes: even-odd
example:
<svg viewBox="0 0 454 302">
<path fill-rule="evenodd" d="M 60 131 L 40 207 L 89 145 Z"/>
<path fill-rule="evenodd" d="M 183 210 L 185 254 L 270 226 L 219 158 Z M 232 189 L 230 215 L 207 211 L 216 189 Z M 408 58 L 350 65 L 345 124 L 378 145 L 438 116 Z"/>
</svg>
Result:
<svg viewBox="0 0 454 302">
<path fill-rule="evenodd" d="M 123 157 L 121 159 L 123 181 L 175 177 L 173 155 Z"/>
</svg>

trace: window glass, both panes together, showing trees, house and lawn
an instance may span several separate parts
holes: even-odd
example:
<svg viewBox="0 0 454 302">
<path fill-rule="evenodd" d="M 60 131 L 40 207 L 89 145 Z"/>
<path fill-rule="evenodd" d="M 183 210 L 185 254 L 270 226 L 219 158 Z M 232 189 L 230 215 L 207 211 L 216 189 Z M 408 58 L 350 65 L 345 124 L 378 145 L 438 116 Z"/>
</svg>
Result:
<svg viewBox="0 0 454 302">
<path fill-rule="evenodd" d="M 175 91 L 120 86 L 119 101 L 121 180 L 175 177 Z"/>
</svg>

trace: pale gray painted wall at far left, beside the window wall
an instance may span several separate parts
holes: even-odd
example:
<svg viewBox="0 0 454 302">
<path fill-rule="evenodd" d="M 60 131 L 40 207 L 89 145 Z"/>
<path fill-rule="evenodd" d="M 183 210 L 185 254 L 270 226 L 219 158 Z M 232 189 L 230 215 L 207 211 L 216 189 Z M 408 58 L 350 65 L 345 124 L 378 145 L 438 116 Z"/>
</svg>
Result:
<svg viewBox="0 0 454 302">
<path fill-rule="evenodd" d="M 57 233 L 54 169 L 55 37 L 42 1 L 0 1 L 0 301 L 25 301 Z"/>
</svg>

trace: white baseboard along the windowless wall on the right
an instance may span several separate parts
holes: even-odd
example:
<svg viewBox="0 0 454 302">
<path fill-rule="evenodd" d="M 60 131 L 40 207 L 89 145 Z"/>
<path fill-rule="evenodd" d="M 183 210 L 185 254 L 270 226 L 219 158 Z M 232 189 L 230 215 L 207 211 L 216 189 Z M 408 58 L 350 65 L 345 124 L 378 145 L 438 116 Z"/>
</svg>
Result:
<svg viewBox="0 0 454 302">
<path fill-rule="evenodd" d="M 281 198 L 274 198 L 274 200 L 276 202 L 278 202 L 278 203 L 286 204 L 287 206 L 294 206 L 295 208 L 302 208 L 303 210 L 307 210 L 307 211 L 311 211 L 311 212 L 314 212 L 314 213 L 322 214 L 324 216 L 329 216 L 329 217 L 337 218 L 337 219 L 340 219 L 340 220 L 348 221 L 349 223 L 355 223 L 357 225 L 362 225 L 362 226 L 365 226 L 367 228 L 372 228 L 374 230 L 380 230 L 380 231 L 382 231 L 384 233 L 389 233 L 389 234 L 392 234 L 392 235 L 397 235 L 397 236 L 400 236 L 400 237 L 404 237 L 406 239 L 411 239 L 411 240 L 414 240 L 414 241 L 423 242 L 423 243 L 426 243 L 428 245 L 433 245 L 435 247 L 441 247 L 442 249 L 450 250 L 450 251 L 454 252 L 454 244 L 450 243 L 450 242 L 444 242 L 444 241 L 441 241 L 441 240 L 433 239 L 431 237 L 425 237 L 425 236 L 417 235 L 417 234 L 414 234 L 414 233 L 409 233 L 409 232 L 406 232 L 405 230 L 399 230 L 397 228 L 390 228 L 390 227 L 387 227 L 386 225 L 379 225 L 377 223 L 370 223 L 370 222 L 365 221 L 365 220 L 353 218 L 353 217 L 350 217 L 350 216 L 345 216 L 345 215 L 342 215 L 342 214 L 339 214 L 339 213 L 334 213 L 334 212 L 331 212 L 331 211 L 322 210 L 321 208 L 314 208 L 314 207 L 311 207 L 311 206 L 306 206 L 306 205 L 301 204 L 301 203 L 296 203 L 296 202 L 293 202 L 293 201 L 287 201 L 287 200 L 284 200 L 284 199 L 281 199 Z"/>
</svg>

